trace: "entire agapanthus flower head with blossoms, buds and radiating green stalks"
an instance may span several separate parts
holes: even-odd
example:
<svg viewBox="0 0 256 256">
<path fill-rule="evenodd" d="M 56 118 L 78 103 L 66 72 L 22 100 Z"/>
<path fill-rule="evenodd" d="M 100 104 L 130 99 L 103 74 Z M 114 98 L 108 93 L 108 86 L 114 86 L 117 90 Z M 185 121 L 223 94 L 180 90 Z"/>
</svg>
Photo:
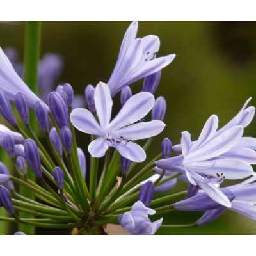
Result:
<svg viewBox="0 0 256 256">
<path fill-rule="evenodd" d="M 13 66 L 16 61 L 15 68 L 0 48 L 0 114 L 8 123 L 0 125 L 0 147 L 15 169 L 10 175 L 0 162 L 0 207 L 10 213 L 0 220 L 69 228 L 72 234 L 106 234 L 106 225 L 120 224 L 130 234 L 145 235 L 161 227 L 205 225 L 226 209 L 256 220 L 252 168 L 256 139 L 243 136 L 255 115 L 255 108 L 247 107 L 250 99 L 221 129 L 218 117 L 212 115 L 198 140 L 192 141 L 188 131 L 182 132 L 180 145 L 164 138 L 160 154 L 147 159 L 153 138 L 166 126 L 166 100 L 163 96 L 155 100 L 154 94 L 161 70 L 175 54 L 157 57 L 159 38 L 136 38 L 137 30 L 138 22 L 132 22 L 108 82 L 86 86 L 87 108 L 74 108 L 74 91 L 68 83 L 49 92 L 62 67 L 58 58 L 47 55 L 40 62 L 40 83 L 48 88 L 40 99 L 15 72 L 20 65 L 13 52 L 7 51 Z M 142 90 L 132 95 L 130 85 L 140 79 L 144 79 Z M 112 116 L 113 97 L 118 92 L 121 108 Z M 30 125 L 29 108 L 35 112 L 40 139 Z M 75 128 L 90 134 L 86 147 L 90 168 L 86 154 L 77 147 Z M 144 139 L 145 144 L 139 145 Z M 147 164 L 138 164 L 146 160 Z M 226 179 L 244 178 L 223 186 Z M 170 192 L 179 180 L 189 184 L 186 191 L 161 194 Z M 22 195 L 18 186 L 29 189 L 33 197 Z M 204 214 L 192 224 L 162 225 L 162 216 L 172 211 Z M 20 212 L 31 218 L 22 218 Z M 22 231 L 15 235 L 23 235 Z"/>
</svg>

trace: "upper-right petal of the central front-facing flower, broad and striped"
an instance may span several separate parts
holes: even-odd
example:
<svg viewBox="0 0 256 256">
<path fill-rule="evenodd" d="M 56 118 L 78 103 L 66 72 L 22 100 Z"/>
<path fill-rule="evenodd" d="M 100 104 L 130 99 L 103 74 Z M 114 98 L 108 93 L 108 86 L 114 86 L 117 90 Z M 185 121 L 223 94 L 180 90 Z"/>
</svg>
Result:
<svg viewBox="0 0 256 256">
<path fill-rule="evenodd" d="M 143 118 L 153 108 L 154 96 L 148 92 L 133 95 L 124 104 L 118 115 L 109 124 L 109 129 L 116 131 Z"/>
</svg>

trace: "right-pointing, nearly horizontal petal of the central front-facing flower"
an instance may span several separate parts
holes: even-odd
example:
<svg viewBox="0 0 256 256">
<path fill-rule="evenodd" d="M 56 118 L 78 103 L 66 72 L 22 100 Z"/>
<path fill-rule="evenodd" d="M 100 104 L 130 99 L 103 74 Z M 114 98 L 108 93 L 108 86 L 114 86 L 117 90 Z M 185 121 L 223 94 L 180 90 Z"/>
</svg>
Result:
<svg viewBox="0 0 256 256">
<path fill-rule="evenodd" d="M 116 134 L 126 140 L 141 140 L 156 136 L 163 131 L 164 127 L 165 124 L 162 121 L 152 120 L 126 126 L 116 131 Z"/>
</svg>

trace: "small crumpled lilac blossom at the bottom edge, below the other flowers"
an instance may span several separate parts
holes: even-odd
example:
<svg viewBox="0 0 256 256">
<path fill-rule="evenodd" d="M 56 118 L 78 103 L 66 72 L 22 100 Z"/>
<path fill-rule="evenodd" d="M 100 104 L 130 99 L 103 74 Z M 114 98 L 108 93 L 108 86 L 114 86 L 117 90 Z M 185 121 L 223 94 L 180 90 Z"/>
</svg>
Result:
<svg viewBox="0 0 256 256">
<path fill-rule="evenodd" d="M 154 222 L 148 218 L 148 215 L 155 213 L 156 211 L 138 201 L 132 205 L 131 211 L 119 215 L 118 220 L 122 227 L 132 235 L 153 235 L 163 222 L 163 218 Z"/>
</svg>

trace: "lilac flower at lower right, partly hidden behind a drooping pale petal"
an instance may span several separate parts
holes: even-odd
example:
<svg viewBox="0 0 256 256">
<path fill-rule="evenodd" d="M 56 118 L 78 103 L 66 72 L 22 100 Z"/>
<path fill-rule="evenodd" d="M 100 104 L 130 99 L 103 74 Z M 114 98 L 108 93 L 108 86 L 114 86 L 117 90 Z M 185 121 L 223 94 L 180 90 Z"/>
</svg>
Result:
<svg viewBox="0 0 256 256">
<path fill-rule="evenodd" d="M 230 210 L 243 214 L 256 220 L 256 177 L 252 177 L 240 184 L 221 188 L 223 193 L 230 198 Z M 227 207 L 216 203 L 204 191 L 198 191 L 195 196 L 174 204 L 179 211 L 205 211 L 204 215 L 196 222 L 205 225 L 215 220 Z"/>
</svg>

